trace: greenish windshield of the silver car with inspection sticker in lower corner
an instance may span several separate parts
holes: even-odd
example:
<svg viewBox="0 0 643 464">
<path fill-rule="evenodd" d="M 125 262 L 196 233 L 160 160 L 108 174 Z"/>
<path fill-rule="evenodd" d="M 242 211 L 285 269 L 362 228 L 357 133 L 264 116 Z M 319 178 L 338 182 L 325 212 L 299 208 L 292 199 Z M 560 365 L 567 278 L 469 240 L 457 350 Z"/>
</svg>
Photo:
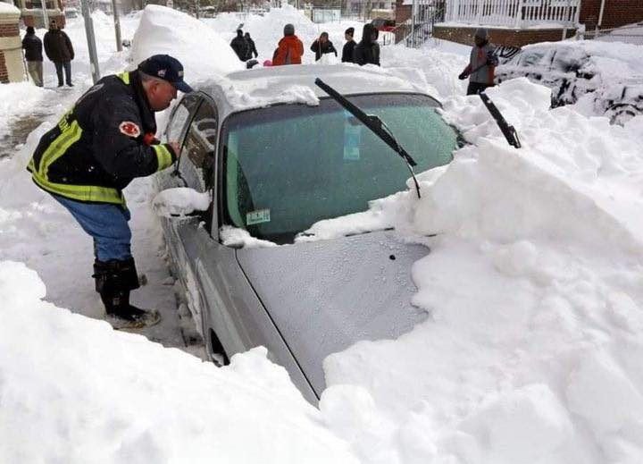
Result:
<svg viewBox="0 0 643 464">
<path fill-rule="evenodd" d="M 438 102 L 412 94 L 349 97 L 388 125 L 417 162 L 417 173 L 446 165 L 455 130 Z M 275 105 L 224 124 L 223 198 L 227 222 L 277 243 L 312 224 L 368 209 L 368 201 L 405 190 L 402 158 L 335 100 Z"/>
</svg>

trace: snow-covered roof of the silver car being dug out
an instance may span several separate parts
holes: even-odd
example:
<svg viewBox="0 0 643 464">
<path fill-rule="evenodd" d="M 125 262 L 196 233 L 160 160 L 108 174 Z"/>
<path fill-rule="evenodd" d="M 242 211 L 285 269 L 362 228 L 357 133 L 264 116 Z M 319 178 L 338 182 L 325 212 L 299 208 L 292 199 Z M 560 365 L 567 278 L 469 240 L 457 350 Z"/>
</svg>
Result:
<svg viewBox="0 0 643 464">
<path fill-rule="evenodd" d="M 231 113 L 270 105 L 317 105 L 319 98 L 328 95 L 314 84 L 316 78 L 320 78 L 343 95 L 429 95 L 425 89 L 397 77 L 393 72 L 376 66 L 361 67 L 355 64 L 266 66 L 231 72 L 223 78 L 206 80 L 195 87 L 215 99 L 222 120 Z"/>
</svg>

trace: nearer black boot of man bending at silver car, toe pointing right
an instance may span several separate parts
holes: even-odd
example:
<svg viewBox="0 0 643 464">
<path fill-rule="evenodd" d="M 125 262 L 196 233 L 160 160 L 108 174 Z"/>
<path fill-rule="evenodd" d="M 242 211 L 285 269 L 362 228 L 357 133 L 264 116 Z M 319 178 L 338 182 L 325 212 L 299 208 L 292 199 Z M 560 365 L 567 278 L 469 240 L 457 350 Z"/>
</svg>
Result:
<svg viewBox="0 0 643 464">
<path fill-rule="evenodd" d="M 114 328 L 143 328 L 161 320 L 158 311 L 140 309 L 129 304 L 129 291 L 138 288 L 134 259 L 96 259 L 94 263 L 96 291 L 100 293 L 105 313 Z"/>
</svg>

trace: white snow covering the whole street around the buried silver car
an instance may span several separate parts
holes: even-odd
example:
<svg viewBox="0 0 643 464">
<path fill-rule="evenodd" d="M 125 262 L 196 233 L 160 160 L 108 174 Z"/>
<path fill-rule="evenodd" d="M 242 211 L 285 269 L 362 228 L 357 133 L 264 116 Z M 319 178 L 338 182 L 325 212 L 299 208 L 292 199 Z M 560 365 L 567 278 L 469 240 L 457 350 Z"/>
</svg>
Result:
<svg viewBox="0 0 643 464">
<path fill-rule="evenodd" d="M 107 42 L 108 19 L 95 16 Z M 140 14 L 123 20 L 131 37 L 138 21 Z M 244 21 L 260 58 L 271 56 L 287 22 L 306 49 L 321 30 L 340 48 L 355 24 L 318 28 L 292 8 Z M 198 34 L 173 44 L 168 22 Z M 186 62 L 194 53 L 200 61 L 189 62 L 188 81 L 236 66 L 227 43 L 238 18 L 204 22 L 221 39 L 180 13 L 148 7 L 141 30 L 150 32 L 139 31 L 130 53 Z M 82 47 L 81 28 L 68 31 Z M 148 36 L 162 49 L 150 48 Z M 105 71 L 136 63 L 111 50 L 101 47 Z M 219 369 L 84 317 L 100 316 L 90 240 L 24 171 L 38 137 L 83 86 L 0 87 L 7 116 L 38 106 L 54 114 L 0 161 L 0 462 L 641 462 L 643 117 L 611 126 L 572 107 L 549 110 L 549 89 L 510 80 L 489 89 L 522 139 L 523 148 L 510 148 L 480 98 L 463 97 L 461 51 L 382 50 L 384 67 L 406 67 L 416 84 L 437 90 L 444 117 L 470 144 L 451 165 L 419 175 L 422 199 L 412 189 L 314 224 L 329 238 L 392 225 L 431 249 L 409 270 L 427 321 L 326 359 L 319 409 L 263 349 Z M 155 338 L 181 347 L 150 181 L 126 195 L 149 281 L 136 293 L 163 309 L 167 325 Z"/>
</svg>

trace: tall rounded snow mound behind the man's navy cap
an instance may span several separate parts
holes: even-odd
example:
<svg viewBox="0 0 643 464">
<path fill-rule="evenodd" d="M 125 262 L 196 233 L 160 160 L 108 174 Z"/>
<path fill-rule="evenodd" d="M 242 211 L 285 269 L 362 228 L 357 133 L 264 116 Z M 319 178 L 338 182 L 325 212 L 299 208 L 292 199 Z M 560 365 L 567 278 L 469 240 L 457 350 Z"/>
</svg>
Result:
<svg viewBox="0 0 643 464">
<path fill-rule="evenodd" d="M 131 57 L 136 65 L 156 54 L 177 58 L 190 84 L 245 69 L 228 43 L 203 22 L 171 8 L 148 4 L 134 34 Z"/>
</svg>

